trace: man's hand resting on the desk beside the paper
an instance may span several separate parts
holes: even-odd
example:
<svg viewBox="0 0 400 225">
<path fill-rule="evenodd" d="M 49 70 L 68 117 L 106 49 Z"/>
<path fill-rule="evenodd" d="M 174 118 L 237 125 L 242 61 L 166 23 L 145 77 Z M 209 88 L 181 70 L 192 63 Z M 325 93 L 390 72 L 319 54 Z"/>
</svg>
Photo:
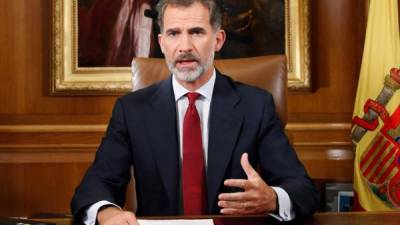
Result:
<svg viewBox="0 0 400 225">
<path fill-rule="evenodd" d="M 99 225 L 139 225 L 135 214 L 117 207 L 108 207 L 97 213 Z"/>
</svg>

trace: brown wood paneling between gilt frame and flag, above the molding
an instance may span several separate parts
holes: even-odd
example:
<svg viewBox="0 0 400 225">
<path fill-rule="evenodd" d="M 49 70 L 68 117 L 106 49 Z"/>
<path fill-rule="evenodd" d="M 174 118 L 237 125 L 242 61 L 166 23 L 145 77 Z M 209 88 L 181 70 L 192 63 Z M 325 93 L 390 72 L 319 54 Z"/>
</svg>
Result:
<svg viewBox="0 0 400 225">
<path fill-rule="evenodd" d="M 311 1 L 311 73 L 314 91 L 291 94 L 289 122 L 347 116 L 350 121 L 365 33 L 365 1 Z"/>
</svg>

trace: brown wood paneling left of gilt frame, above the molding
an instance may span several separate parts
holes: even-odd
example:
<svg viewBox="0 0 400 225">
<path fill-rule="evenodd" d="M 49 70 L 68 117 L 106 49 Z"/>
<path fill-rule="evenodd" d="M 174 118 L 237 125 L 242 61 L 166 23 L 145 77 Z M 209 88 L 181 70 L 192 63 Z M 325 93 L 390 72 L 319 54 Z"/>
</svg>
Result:
<svg viewBox="0 0 400 225">
<path fill-rule="evenodd" d="M 0 114 L 109 115 L 116 96 L 50 97 L 50 0 L 1 1 Z M 45 121 L 34 121 L 45 123 Z M 63 123 L 62 120 L 59 123 Z"/>
</svg>

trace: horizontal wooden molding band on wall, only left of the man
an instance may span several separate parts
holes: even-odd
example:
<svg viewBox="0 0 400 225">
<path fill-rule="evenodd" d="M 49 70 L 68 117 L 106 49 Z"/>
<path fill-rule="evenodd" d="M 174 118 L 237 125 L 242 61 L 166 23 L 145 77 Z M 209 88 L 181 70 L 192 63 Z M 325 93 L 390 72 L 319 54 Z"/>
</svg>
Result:
<svg viewBox="0 0 400 225">
<path fill-rule="evenodd" d="M 0 163 L 91 162 L 105 125 L 0 125 Z"/>
</svg>

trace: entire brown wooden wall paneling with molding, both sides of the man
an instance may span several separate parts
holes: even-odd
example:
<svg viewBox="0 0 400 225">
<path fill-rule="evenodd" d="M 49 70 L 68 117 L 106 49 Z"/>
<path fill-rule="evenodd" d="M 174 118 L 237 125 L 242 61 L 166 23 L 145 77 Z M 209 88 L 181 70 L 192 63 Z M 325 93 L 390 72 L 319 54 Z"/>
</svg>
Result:
<svg viewBox="0 0 400 225">
<path fill-rule="evenodd" d="M 69 213 L 118 97 L 48 95 L 50 2 L 0 1 L 0 216 Z M 314 90 L 288 96 L 287 134 L 314 179 L 352 180 L 364 33 L 365 1 L 311 0 Z"/>
</svg>

